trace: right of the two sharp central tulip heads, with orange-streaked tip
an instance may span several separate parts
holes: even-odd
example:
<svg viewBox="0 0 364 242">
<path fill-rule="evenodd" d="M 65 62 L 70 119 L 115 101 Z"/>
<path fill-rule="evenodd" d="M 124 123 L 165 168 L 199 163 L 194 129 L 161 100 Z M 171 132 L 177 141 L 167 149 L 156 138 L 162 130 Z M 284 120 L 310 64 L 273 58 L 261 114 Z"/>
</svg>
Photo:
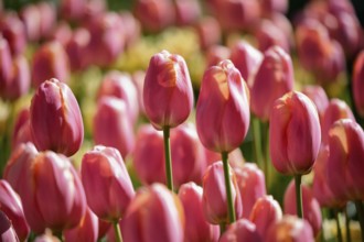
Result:
<svg viewBox="0 0 364 242">
<path fill-rule="evenodd" d="M 196 106 L 196 128 L 202 144 L 231 152 L 247 134 L 249 91 L 231 61 L 210 67 L 203 76 Z"/>
</svg>

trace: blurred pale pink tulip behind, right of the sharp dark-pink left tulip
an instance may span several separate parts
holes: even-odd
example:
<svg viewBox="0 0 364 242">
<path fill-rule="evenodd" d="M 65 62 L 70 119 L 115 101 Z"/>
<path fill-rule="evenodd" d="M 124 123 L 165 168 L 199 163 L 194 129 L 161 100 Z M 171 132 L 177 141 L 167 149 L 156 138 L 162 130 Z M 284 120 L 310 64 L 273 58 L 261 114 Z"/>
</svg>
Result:
<svg viewBox="0 0 364 242">
<path fill-rule="evenodd" d="M 97 103 L 94 116 L 96 144 L 116 147 L 125 158 L 133 148 L 135 134 L 124 100 L 104 97 Z"/>
</svg>

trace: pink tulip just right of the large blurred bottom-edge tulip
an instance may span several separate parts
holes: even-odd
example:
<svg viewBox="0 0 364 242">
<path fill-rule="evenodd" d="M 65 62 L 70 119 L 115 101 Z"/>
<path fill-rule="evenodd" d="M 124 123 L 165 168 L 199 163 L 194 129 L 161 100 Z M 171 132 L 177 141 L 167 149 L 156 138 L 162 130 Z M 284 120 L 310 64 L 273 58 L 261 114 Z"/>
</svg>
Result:
<svg viewBox="0 0 364 242">
<path fill-rule="evenodd" d="M 183 184 L 179 190 L 179 198 L 183 205 L 185 217 L 184 241 L 217 241 L 218 227 L 207 222 L 203 215 L 202 187 L 190 182 Z"/>
</svg>

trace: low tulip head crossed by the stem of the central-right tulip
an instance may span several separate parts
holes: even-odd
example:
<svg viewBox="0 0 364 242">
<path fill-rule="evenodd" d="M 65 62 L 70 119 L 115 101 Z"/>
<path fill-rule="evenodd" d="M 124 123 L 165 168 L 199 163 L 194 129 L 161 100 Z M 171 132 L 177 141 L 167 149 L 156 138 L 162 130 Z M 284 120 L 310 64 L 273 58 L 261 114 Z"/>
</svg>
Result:
<svg viewBox="0 0 364 242">
<path fill-rule="evenodd" d="M 239 219 L 243 216 L 243 202 L 234 172 L 229 174 L 229 183 L 235 216 L 236 219 Z M 228 223 L 227 195 L 222 162 L 215 162 L 207 167 L 202 184 L 203 211 L 206 220 L 213 224 Z"/>
</svg>

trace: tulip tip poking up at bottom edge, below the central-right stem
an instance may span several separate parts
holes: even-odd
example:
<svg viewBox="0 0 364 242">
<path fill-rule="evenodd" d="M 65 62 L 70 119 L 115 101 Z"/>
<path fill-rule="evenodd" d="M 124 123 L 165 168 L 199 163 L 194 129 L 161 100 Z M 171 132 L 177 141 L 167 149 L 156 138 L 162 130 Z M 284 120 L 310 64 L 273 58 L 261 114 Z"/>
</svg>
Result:
<svg viewBox="0 0 364 242">
<path fill-rule="evenodd" d="M 263 241 L 256 226 L 247 219 L 239 219 L 228 226 L 227 230 L 222 234 L 220 242 L 238 242 L 238 241 Z"/>
</svg>

